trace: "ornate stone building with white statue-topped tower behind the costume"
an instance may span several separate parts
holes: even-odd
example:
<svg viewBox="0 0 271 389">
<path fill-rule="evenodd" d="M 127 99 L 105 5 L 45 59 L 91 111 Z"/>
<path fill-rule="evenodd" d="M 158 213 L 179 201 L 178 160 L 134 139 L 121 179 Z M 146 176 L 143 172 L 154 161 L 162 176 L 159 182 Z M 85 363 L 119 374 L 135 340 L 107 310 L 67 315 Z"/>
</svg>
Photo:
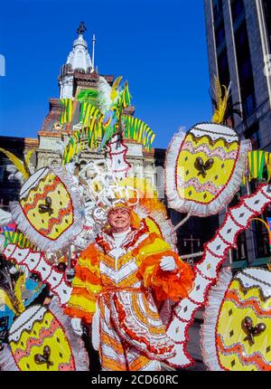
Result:
<svg viewBox="0 0 271 389">
<path fill-rule="evenodd" d="M 14 151 L 18 157 L 23 157 L 31 147 L 35 149 L 35 159 L 33 168 L 40 169 L 43 166 L 61 166 L 61 154 L 58 151 L 69 141 L 70 135 L 80 129 L 79 108 L 74 112 L 71 123 L 62 126 L 60 124 L 61 99 L 75 98 L 79 90 L 98 87 L 98 73 L 94 70 L 92 60 L 88 52 L 88 43 L 84 40 L 84 28 L 78 29 L 78 38 L 74 41 L 72 50 L 68 55 L 67 62 L 61 66 L 61 73 L 58 78 L 60 87 L 60 99 L 51 99 L 49 103 L 49 112 L 43 120 L 42 128 L 38 131 L 38 138 L 8 138 L 0 137 L 2 147 Z M 93 54 L 92 54 L 93 55 Z M 107 82 L 112 85 L 113 75 L 103 75 Z M 126 115 L 134 115 L 135 107 L 129 107 L 125 111 Z M 154 188 L 157 187 L 157 175 L 155 169 L 154 150 L 149 151 L 135 140 L 125 139 L 127 149 L 127 160 L 131 164 L 129 174 L 140 178 L 146 178 Z M 0 145 L 0 146 L 1 146 Z M 2 157 L 2 153 L 1 156 Z M 87 147 L 80 153 L 79 165 L 84 166 L 92 160 L 105 158 L 105 152 L 89 150 Z M 9 164 L 7 158 L 3 159 L 3 172 L 5 165 Z M 3 178 L 4 179 L 4 178 Z M 7 194 L 10 185 L 16 186 L 16 191 L 11 190 L 12 195 Z M 1 197 L 1 193 L 2 197 Z M 0 202 L 8 204 L 14 196 L 18 194 L 18 185 L 7 181 L 5 174 L 5 185 L 2 185 L 0 192 Z M 163 191 L 161 191 L 163 195 Z"/>
</svg>

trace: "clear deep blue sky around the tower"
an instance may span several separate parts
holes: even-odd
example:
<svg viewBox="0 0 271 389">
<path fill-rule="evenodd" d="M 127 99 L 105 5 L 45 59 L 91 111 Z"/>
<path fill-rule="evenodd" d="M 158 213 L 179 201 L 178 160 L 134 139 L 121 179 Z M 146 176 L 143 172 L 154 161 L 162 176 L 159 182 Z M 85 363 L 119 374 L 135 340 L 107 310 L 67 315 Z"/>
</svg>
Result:
<svg viewBox="0 0 271 389">
<path fill-rule="evenodd" d="M 129 81 L 135 116 L 166 148 L 180 127 L 210 120 L 203 0 L 9 0 L 1 5 L 0 135 L 37 136 L 84 21 L 102 74 Z"/>
</svg>

